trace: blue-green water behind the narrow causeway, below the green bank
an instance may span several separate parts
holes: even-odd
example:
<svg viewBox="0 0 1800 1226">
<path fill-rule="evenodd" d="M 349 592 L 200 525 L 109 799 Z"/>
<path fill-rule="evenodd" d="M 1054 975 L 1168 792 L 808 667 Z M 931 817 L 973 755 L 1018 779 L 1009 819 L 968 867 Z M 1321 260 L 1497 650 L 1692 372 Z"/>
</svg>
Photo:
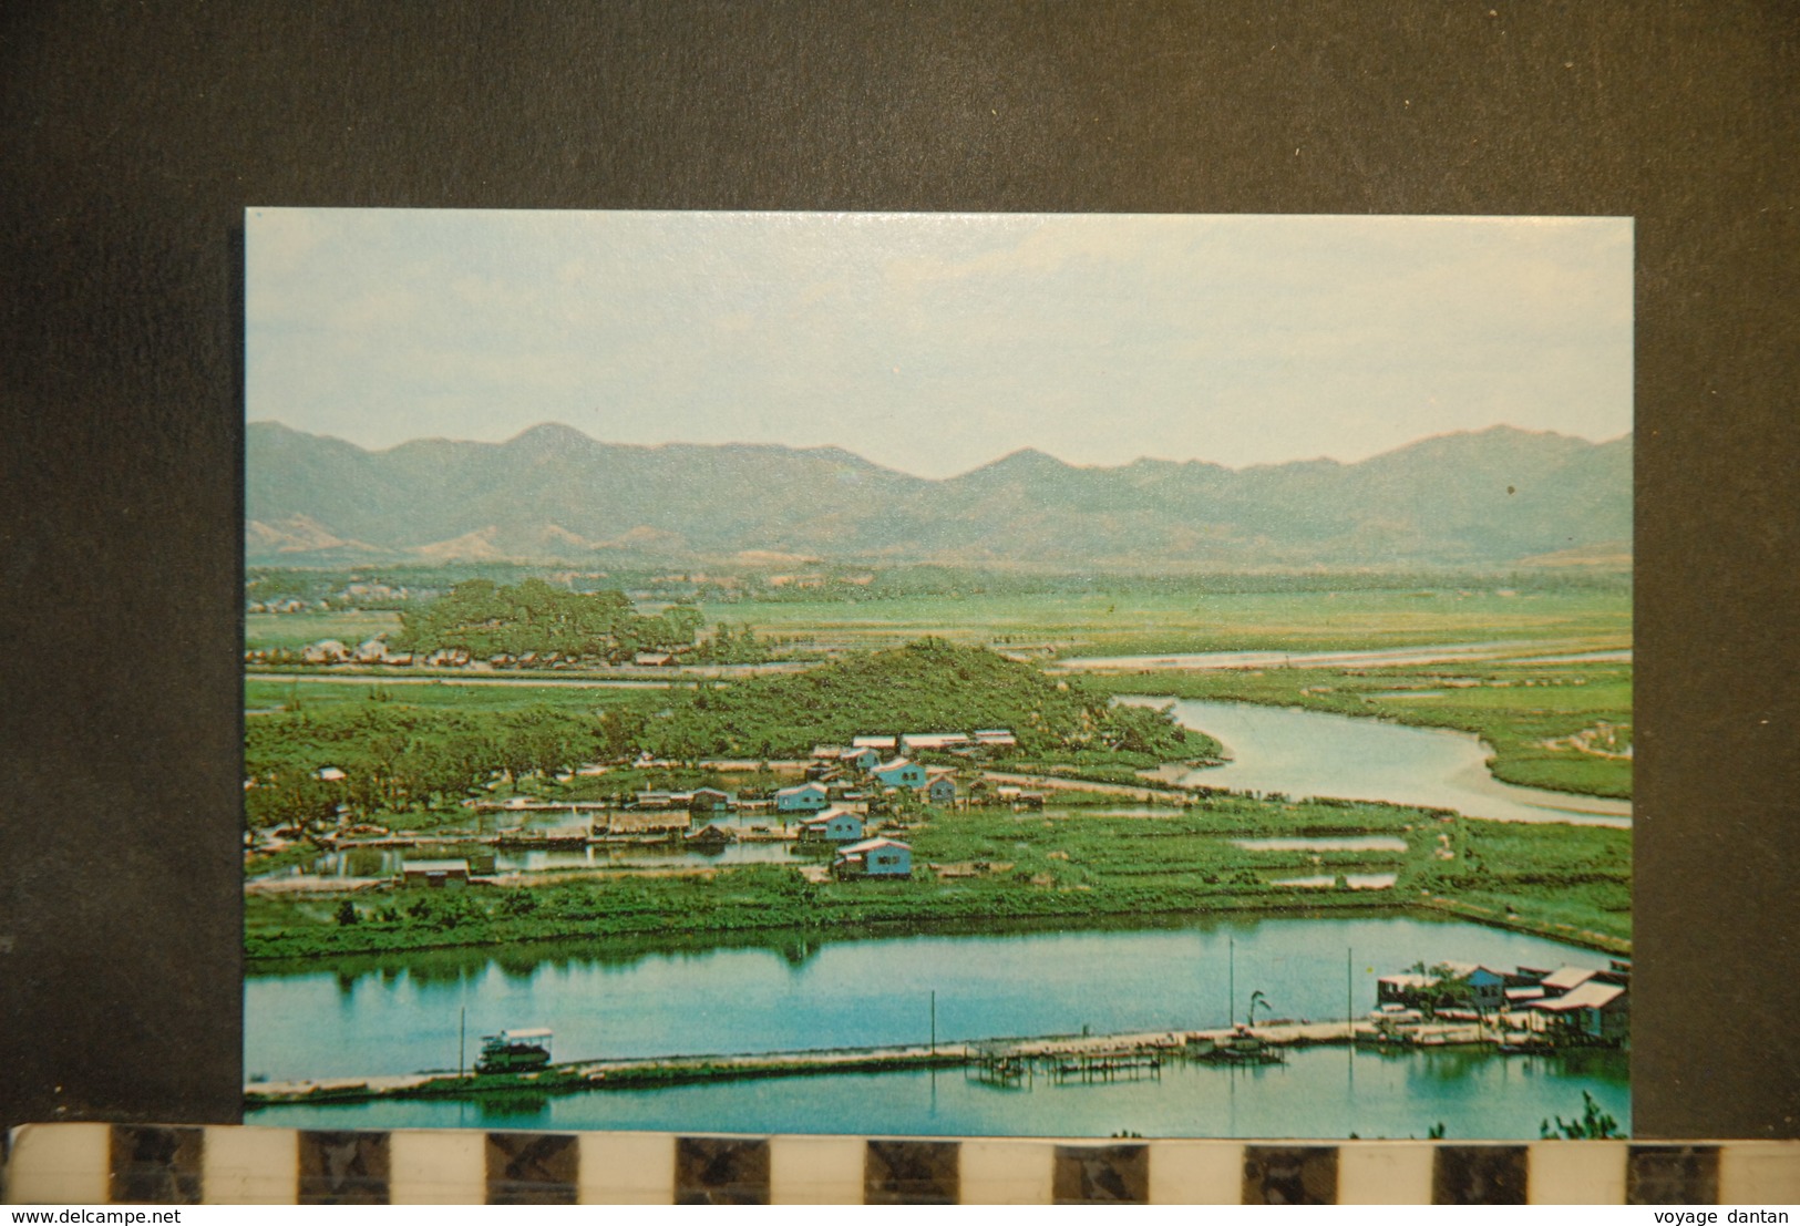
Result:
<svg viewBox="0 0 1800 1226">
<path fill-rule="evenodd" d="M 1346 949 L 1355 951 L 1348 976 Z M 932 992 L 940 1039 L 1219 1026 L 1233 960 L 1240 1019 L 1253 990 L 1280 1017 L 1337 1019 L 1348 987 L 1363 1014 L 1375 1005 L 1377 976 L 1420 960 L 1606 965 L 1535 936 L 1402 916 L 833 942 L 794 934 L 785 947 L 661 952 L 562 942 L 250 976 L 245 1068 L 274 1080 L 455 1068 L 463 1008 L 472 1037 L 554 1028 L 562 1060 L 923 1042 Z"/>
</svg>

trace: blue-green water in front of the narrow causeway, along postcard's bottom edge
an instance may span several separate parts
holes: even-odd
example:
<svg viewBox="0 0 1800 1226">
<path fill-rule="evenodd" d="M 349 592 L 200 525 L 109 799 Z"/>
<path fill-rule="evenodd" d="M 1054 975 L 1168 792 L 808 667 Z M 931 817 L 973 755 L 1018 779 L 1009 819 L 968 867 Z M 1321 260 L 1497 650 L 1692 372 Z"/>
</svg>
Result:
<svg viewBox="0 0 1800 1226">
<path fill-rule="evenodd" d="M 308 1129 L 644 1129 L 659 1132 L 909 1132 L 922 1136 L 1537 1138 L 1582 1091 L 1631 1118 L 1625 1057 L 1291 1051 L 1285 1066 L 1170 1064 L 1159 1080 L 997 1089 L 958 1069 L 781 1077 L 655 1091 L 484 1095 L 470 1102 L 268 1107 L 247 1122 Z"/>
</svg>

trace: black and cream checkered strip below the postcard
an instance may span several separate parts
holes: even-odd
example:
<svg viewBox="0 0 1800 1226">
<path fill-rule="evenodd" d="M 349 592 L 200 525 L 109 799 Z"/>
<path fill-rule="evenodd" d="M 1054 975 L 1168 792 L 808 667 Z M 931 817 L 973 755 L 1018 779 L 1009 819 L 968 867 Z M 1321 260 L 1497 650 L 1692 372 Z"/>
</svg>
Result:
<svg viewBox="0 0 1800 1226">
<path fill-rule="evenodd" d="M 1796 1204 L 1800 1141 L 882 1140 L 25 1125 L 14 1204 Z"/>
</svg>

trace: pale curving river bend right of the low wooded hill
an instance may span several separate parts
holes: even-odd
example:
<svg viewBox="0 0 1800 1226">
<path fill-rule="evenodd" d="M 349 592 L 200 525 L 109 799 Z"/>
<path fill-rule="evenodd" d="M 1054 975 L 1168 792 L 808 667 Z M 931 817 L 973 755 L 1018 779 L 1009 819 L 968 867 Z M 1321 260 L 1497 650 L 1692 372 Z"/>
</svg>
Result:
<svg viewBox="0 0 1800 1226">
<path fill-rule="evenodd" d="M 1120 702 L 1166 706 L 1170 699 Z M 1174 706 L 1177 720 L 1217 736 L 1231 754 L 1184 783 L 1426 805 L 1498 821 L 1631 825 L 1629 801 L 1501 783 L 1487 771 L 1487 747 L 1469 733 L 1247 702 L 1177 699 Z"/>
</svg>

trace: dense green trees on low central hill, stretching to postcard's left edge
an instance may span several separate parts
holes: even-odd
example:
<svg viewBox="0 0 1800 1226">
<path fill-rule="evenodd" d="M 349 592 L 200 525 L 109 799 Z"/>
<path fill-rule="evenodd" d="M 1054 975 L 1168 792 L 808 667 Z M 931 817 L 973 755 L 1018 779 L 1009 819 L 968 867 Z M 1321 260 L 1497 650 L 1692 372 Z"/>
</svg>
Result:
<svg viewBox="0 0 1800 1226">
<path fill-rule="evenodd" d="M 554 776 L 587 762 L 792 758 L 860 733 L 1010 727 L 1022 765 L 1082 774 L 1217 753 L 1147 708 L 1112 708 L 979 648 L 941 641 L 857 655 L 787 677 L 619 691 L 567 686 L 382 686 L 322 693 L 250 682 L 277 709 L 245 722 L 245 812 L 252 828 L 353 814 L 452 808 L 500 776 Z M 355 695 L 355 697 L 353 697 Z M 333 767 L 342 780 L 320 780 Z M 608 790 L 621 787 L 607 778 Z M 576 792 L 569 792 L 574 798 Z"/>
</svg>

